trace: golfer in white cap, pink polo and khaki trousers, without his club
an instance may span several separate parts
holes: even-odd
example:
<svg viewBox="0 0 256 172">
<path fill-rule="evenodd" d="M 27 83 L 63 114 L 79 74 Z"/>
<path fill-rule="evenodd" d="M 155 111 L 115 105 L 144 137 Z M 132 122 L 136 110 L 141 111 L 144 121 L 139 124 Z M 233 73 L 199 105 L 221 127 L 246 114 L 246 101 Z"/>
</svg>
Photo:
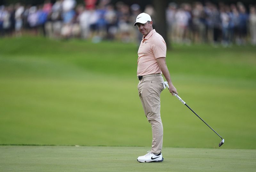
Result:
<svg viewBox="0 0 256 172">
<path fill-rule="evenodd" d="M 166 66 L 166 43 L 163 37 L 152 27 L 151 17 L 146 13 L 137 16 L 134 26 L 144 35 L 138 50 L 137 76 L 138 90 L 145 115 L 152 127 L 152 148 L 139 162 L 162 162 L 163 125 L 160 116 L 160 94 L 164 90 L 164 79 L 169 84 L 169 91 L 178 94 Z"/>
</svg>

